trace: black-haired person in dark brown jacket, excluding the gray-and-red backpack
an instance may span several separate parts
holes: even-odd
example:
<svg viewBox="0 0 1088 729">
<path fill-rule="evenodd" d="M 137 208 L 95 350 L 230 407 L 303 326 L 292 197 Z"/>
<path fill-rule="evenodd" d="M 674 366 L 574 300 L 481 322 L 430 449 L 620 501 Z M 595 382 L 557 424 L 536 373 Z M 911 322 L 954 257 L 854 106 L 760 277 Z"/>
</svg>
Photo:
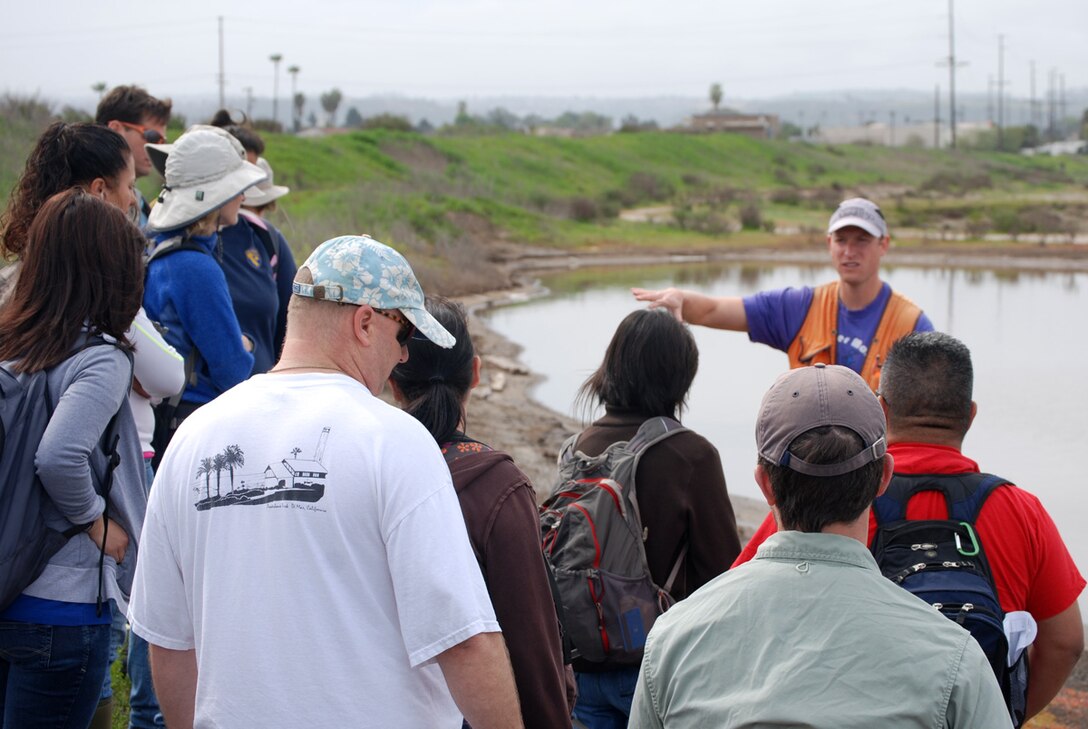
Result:
<svg viewBox="0 0 1088 729">
<path fill-rule="evenodd" d="M 698 348 L 688 326 L 668 312 L 641 309 L 620 322 L 604 361 L 579 391 L 583 406 L 605 413 L 582 431 L 574 447 L 599 455 L 630 441 L 653 418 L 679 419 L 698 369 Z M 726 571 L 740 553 L 721 459 L 694 431 L 651 446 L 635 471 L 635 499 L 644 528 L 651 577 L 683 600 Z M 578 678 L 574 718 L 589 729 L 626 727 L 639 667 L 573 663 Z"/>
</svg>

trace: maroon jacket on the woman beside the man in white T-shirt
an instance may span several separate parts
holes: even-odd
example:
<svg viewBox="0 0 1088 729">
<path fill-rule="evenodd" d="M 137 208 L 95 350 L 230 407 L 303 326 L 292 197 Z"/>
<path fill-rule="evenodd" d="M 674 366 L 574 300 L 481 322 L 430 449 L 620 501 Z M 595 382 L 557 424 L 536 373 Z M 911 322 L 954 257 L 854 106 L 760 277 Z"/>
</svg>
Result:
<svg viewBox="0 0 1088 729">
<path fill-rule="evenodd" d="M 559 643 L 559 621 L 541 554 L 536 495 L 505 453 L 473 453 L 479 444 L 444 449 L 465 514 L 469 541 L 510 652 L 526 729 L 569 729 L 571 706 Z"/>
</svg>

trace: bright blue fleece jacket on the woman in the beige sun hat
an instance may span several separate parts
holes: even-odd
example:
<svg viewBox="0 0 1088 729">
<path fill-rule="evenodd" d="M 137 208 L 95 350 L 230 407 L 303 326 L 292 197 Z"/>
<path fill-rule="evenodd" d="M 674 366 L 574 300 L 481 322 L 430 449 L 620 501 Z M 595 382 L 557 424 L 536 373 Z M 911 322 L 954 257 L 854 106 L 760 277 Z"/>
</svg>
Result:
<svg viewBox="0 0 1088 729">
<path fill-rule="evenodd" d="M 181 233 L 160 233 L 154 243 Z M 148 265 L 144 308 L 165 328 L 166 342 L 182 357 L 188 358 L 196 346 L 197 382 L 186 383 L 182 400 L 202 405 L 248 378 L 254 356 L 243 347 L 226 277 L 217 261 L 219 236 L 190 240 L 203 250 L 180 250 Z"/>
</svg>

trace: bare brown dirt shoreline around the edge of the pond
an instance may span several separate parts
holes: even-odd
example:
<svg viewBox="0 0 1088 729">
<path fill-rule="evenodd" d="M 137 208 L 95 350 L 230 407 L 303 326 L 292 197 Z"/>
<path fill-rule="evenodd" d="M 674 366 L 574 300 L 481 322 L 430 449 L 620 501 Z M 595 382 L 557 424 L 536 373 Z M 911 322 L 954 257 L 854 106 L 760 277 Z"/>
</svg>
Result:
<svg viewBox="0 0 1088 729">
<path fill-rule="evenodd" d="M 506 252 L 506 251 L 504 251 Z M 1054 252 L 1054 251 L 1048 251 Z M 1021 251 L 892 251 L 888 263 L 895 265 L 952 265 L 955 268 L 1014 269 L 1023 271 L 1088 271 L 1088 250 L 1035 256 Z M 659 255 L 629 251 L 572 255 L 552 250 L 521 249 L 520 255 L 496 256 L 510 286 L 504 289 L 456 296 L 469 311 L 469 332 L 483 358 L 480 387 L 473 391 L 468 407 L 467 431 L 492 446 L 509 453 L 543 497 L 552 485 L 559 446 L 583 423 L 556 412 L 533 399 L 531 391 L 543 379 L 530 372 L 519 360 L 519 345 L 491 330 L 478 316 L 492 307 L 546 295 L 533 274 L 595 265 L 636 265 L 645 263 L 702 260 L 744 260 L 768 262 L 823 263 L 826 252 L 818 250 L 753 251 L 669 251 Z M 602 343 L 602 351 L 604 343 Z M 571 393 L 571 397 L 573 397 Z M 746 496 L 730 495 L 737 514 L 738 530 L 745 542 L 763 520 L 767 506 Z M 1030 729 L 1073 729 L 1088 726 L 1088 654 L 1083 654 L 1065 688 L 1051 705 L 1033 719 Z"/>
</svg>

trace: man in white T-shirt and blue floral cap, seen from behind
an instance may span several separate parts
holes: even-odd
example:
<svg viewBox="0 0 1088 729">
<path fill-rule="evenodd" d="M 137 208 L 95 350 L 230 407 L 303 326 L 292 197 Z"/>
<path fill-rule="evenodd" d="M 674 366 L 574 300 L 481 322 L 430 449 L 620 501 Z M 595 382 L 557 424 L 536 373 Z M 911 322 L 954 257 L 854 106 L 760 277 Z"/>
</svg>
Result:
<svg viewBox="0 0 1088 729">
<path fill-rule="evenodd" d="M 396 251 L 319 246 L 283 356 L 188 418 L 162 460 L 133 590 L 177 727 L 520 727 L 449 471 L 380 400 L 418 332 L 450 336 Z"/>
</svg>

